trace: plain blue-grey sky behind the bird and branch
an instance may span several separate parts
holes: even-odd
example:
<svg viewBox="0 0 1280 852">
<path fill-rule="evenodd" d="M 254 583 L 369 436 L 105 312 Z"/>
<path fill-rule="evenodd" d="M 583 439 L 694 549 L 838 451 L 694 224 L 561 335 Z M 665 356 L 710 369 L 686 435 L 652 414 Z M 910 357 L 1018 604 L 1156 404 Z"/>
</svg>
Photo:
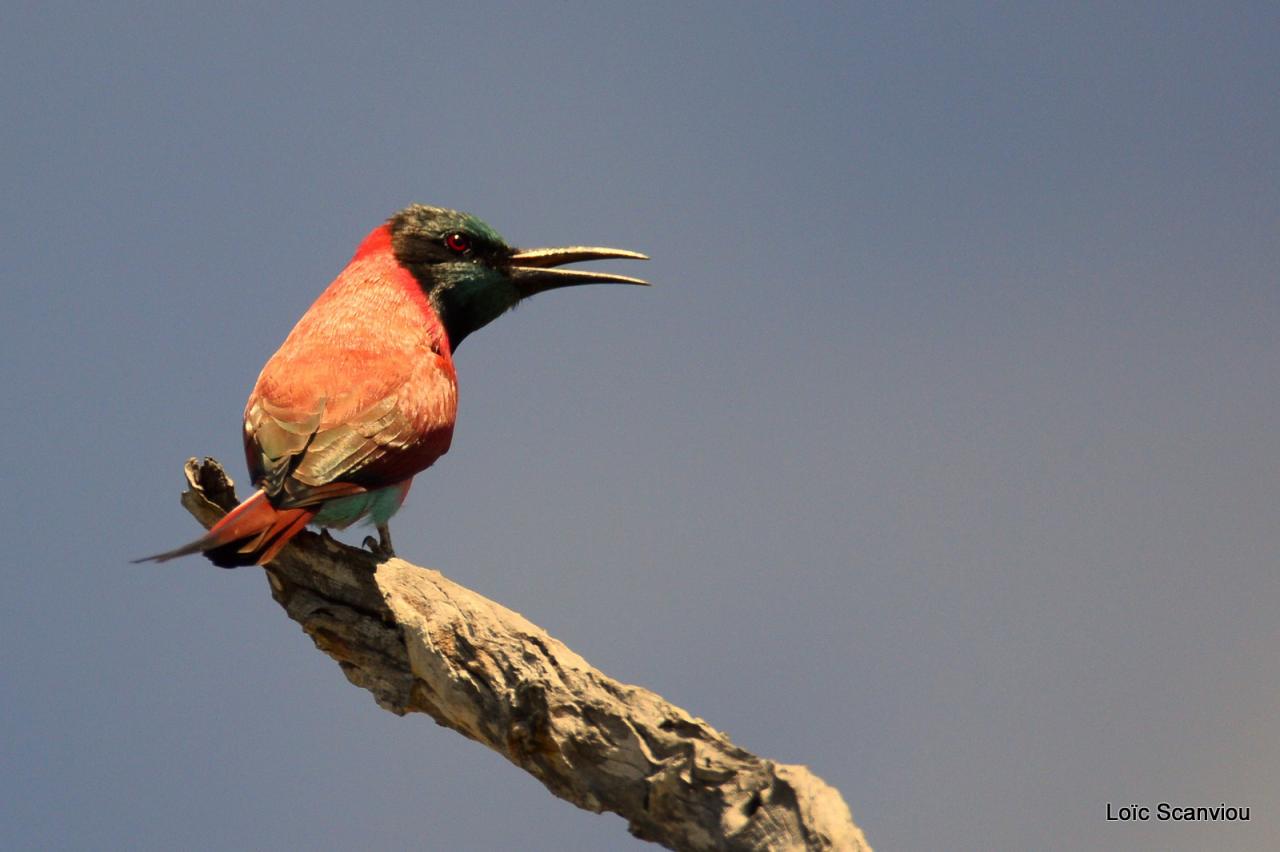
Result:
<svg viewBox="0 0 1280 852">
<path fill-rule="evenodd" d="M 652 848 L 379 710 L 261 571 L 128 564 L 197 532 L 188 455 L 246 486 L 262 362 L 421 201 L 655 287 L 467 339 L 401 555 L 878 849 L 1280 848 L 1277 45 L 1270 3 L 5 4 L 3 846 Z M 1106 821 L 1161 801 L 1252 821 Z"/>
</svg>

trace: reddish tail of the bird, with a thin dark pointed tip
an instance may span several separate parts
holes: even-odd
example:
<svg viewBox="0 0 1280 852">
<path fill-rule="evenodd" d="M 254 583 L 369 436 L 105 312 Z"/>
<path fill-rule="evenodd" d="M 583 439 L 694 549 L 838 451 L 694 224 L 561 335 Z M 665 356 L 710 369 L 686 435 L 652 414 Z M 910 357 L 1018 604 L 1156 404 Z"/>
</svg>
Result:
<svg viewBox="0 0 1280 852">
<path fill-rule="evenodd" d="M 168 562 L 202 553 L 221 568 L 261 565 L 275 558 L 289 539 L 315 517 L 317 507 L 276 509 L 265 491 L 256 491 L 215 523 L 209 532 L 174 550 L 133 562 Z"/>
</svg>

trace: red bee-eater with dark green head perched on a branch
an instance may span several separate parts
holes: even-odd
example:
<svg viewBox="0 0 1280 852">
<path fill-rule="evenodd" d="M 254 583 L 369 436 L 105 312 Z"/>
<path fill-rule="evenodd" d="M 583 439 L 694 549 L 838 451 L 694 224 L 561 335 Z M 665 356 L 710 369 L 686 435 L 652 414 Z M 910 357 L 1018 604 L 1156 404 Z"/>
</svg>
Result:
<svg viewBox="0 0 1280 852">
<path fill-rule="evenodd" d="M 265 564 L 307 526 L 371 523 L 390 558 L 390 518 L 417 473 L 448 452 L 457 416 L 453 353 L 474 331 L 545 290 L 636 284 L 561 269 L 648 260 L 596 246 L 513 248 L 481 219 L 410 205 L 375 228 L 262 367 L 244 404 L 244 458 L 257 489 L 207 533 L 136 559 L 202 553 Z"/>
</svg>

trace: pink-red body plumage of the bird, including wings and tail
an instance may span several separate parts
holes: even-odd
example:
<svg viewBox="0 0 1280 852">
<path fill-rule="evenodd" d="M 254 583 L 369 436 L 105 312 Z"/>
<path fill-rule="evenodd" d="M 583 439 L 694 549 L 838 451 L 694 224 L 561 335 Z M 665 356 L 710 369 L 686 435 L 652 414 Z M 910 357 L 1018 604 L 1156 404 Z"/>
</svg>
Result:
<svg viewBox="0 0 1280 852">
<path fill-rule="evenodd" d="M 205 551 L 221 565 L 261 564 L 326 501 L 388 489 L 398 507 L 413 475 L 449 449 L 456 414 L 448 336 L 417 280 L 397 262 L 383 225 L 253 385 L 244 455 L 262 490 L 202 539 L 156 559 Z M 332 526 L 367 512 L 356 507 L 355 517 Z"/>
</svg>

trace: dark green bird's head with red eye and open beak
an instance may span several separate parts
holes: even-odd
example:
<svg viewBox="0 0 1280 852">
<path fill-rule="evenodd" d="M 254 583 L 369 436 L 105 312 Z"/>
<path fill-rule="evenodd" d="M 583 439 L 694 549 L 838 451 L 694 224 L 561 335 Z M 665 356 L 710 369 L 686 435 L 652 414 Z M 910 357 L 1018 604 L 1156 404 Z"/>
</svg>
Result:
<svg viewBox="0 0 1280 852">
<path fill-rule="evenodd" d="M 558 269 L 611 257 L 648 260 L 622 248 L 512 248 L 480 219 L 445 207 L 412 205 L 388 221 L 396 260 L 413 274 L 440 316 L 449 345 L 521 299 L 577 284 L 648 284 L 639 278 Z"/>
</svg>

